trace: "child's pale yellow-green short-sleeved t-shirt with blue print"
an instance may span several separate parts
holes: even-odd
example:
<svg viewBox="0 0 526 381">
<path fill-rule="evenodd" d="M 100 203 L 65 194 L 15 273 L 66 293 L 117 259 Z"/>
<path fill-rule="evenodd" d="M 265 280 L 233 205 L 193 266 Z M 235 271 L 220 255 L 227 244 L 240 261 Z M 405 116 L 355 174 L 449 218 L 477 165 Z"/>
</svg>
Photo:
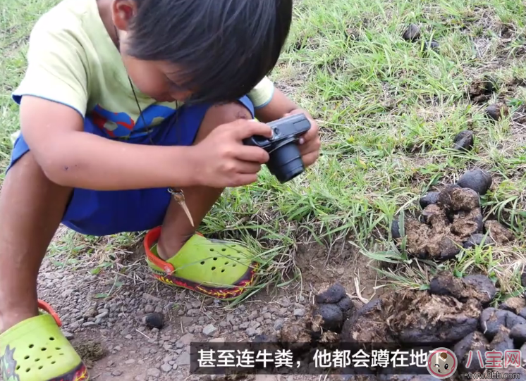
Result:
<svg viewBox="0 0 526 381">
<path fill-rule="evenodd" d="M 71 106 L 111 137 L 142 135 L 177 108 L 175 102 L 159 103 L 136 89 L 139 118 L 126 68 L 96 0 L 63 0 L 42 15 L 31 32 L 27 60 L 25 77 L 13 93 L 15 101 L 32 95 Z M 265 77 L 247 96 L 259 108 L 273 93 L 274 84 Z"/>
</svg>

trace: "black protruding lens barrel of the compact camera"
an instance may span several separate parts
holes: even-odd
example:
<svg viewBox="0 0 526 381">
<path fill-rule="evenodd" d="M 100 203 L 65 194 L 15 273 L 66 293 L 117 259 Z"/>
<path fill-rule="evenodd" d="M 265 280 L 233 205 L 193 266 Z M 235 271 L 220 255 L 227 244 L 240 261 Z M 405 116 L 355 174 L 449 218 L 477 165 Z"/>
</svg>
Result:
<svg viewBox="0 0 526 381">
<path fill-rule="evenodd" d="M 273 151 L 267 168 L 282 184 L 300 175 L 305 170 L 305 166 L 301 159 L 300 149 L 295 142 L 284 144 Z"/>
</svg>

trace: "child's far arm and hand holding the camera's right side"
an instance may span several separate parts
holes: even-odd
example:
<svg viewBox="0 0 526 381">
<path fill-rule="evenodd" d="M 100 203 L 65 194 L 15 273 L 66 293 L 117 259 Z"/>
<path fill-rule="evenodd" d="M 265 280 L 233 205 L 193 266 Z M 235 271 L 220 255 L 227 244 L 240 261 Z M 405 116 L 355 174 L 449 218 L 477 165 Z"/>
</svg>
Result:
<svg viewBox="0 0 526 381">
<path fill-rule="evenodd" d="M 310 119 L 312 127 L 300 139 L 300 152 L 305 166 L 312 165 L 319 156 L 321 142 L 319 140 L 319 127 L 310 113 L 299 108 L 293 101 L 283 94 L 279 89 L 274 89 L 272 99 L 266 106 L 256 109 L 256 118 L 263 123 L 269 123 L 276 119 L 283 118 L 290 114 L 304 113 Z"/>
</svg>

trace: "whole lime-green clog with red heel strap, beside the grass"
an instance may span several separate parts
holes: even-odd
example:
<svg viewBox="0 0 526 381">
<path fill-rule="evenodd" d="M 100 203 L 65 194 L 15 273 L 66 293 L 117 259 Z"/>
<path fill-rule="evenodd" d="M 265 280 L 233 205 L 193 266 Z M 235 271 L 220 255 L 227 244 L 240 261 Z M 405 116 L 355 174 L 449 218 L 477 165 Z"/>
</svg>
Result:
<svg viewBox="0 0 526 381">
<path fill-rule="evenodd" d="M 250 291 L 259 263 L 245 246 L 197 233 L 168 261 L 157 255 L 161 227 L 145 237 L 146 260 L 157 280 L 215 299 L 233 300 Z"/>
</svg>

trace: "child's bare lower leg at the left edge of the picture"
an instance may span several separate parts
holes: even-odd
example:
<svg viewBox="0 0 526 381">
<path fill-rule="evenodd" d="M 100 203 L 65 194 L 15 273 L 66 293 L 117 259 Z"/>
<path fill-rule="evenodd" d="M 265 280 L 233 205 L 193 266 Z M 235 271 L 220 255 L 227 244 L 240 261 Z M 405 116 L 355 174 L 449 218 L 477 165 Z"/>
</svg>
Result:
<svg viewBox="0 0 526 381">
<path fill-rule="evenodd" d="M 49 181 L 28 152 L 0 193 L 0 332 L 37 316 L 37 275 L 70 188 Z"/>
</svg>

